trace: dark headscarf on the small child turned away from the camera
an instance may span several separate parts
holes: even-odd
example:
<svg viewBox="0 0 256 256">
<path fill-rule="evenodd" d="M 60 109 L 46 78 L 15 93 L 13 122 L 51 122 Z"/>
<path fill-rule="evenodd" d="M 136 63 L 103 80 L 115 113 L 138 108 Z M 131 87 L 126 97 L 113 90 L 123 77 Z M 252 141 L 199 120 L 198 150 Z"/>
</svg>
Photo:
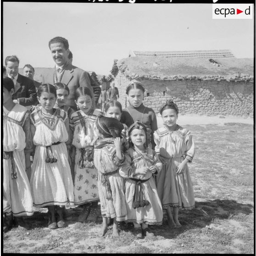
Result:
<svg viewBox="0 0 256 256">
<path fill-rule="evenodd" d="M 122 137 L 123 125 L 116 118 L 101 116 L 96 121 L 96 127 L 104 138 Z"/>
</svg>

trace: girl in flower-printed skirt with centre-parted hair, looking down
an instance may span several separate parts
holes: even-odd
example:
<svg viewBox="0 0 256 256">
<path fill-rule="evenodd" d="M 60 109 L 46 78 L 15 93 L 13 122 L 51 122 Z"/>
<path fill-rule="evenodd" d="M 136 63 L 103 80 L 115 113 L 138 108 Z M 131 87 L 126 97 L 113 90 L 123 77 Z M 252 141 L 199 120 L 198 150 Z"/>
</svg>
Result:
<svg viewBox="0 0 256 256">
<path fill-rule="evenodd" d="M 94 139 L 95 122 L 100 112 L 92 109 L 92 95 L 87 87 L 79 87 L 76 90 L 75 102 L 79 110 L 73 113 L 70 119 L 72 145 L 75 147 L 71 152 L 71 158 L 75 161 L 75 205 L 84 207 L 78 217 L 79 222 L 96 221 L 99 202 L 98 171 L 93 162 L 86 160 L 84 148 Z"/>
</svg>

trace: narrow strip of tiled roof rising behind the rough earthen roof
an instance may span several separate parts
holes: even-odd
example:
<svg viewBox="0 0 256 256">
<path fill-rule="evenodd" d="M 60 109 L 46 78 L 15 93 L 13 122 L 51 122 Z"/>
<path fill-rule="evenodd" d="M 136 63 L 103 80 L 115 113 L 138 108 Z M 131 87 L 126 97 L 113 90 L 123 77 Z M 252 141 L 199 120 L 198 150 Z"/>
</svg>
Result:
<svg viewBox="0 0 256 256">
<path fill-rule="evenodd" d="M 227 58 L 234 57 L 230 50 L 188 50 L 188 51 L 133 51 L 131 56 L 162 56 L 162 57 L 200 57 Z"/>
</svg>

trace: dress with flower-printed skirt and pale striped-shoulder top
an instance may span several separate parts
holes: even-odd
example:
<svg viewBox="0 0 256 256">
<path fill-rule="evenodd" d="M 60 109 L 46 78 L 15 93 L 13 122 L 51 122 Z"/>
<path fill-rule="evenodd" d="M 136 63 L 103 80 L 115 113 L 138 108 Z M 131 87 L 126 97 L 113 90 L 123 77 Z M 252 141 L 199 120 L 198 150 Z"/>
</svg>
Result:
<svg viewBox="0 0 256 256">
<path fill-rule="evenodd" d="M 97 186 L 98 171 L 93 162 L 85 159 L 84 147 L 94 139 L 95 122 L 99 111 L 95 110 L 87 115 L 83 111 L 76 111 L 71 115 L 70 129 L 73 132 L 72 145 L 76 147 L 74 198 L 75 205 L 98 201 Z"/>
</svg>

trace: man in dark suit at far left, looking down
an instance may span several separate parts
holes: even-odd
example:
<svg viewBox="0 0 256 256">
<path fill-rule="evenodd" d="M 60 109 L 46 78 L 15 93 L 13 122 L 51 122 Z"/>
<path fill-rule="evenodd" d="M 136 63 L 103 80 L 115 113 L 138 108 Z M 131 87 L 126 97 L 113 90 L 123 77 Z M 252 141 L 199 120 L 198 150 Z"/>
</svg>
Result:
<svg viewBox="0 0 256 256">
<path fill-rule="evenodd" d="M 29 108 L 37 101 L 36 89 L 31 79 L 18 73 L 19 63 L 17 56 L 7 56 L 5 60 L 6 74 L 14 83 L 13 102 Z"/>
</svg>

